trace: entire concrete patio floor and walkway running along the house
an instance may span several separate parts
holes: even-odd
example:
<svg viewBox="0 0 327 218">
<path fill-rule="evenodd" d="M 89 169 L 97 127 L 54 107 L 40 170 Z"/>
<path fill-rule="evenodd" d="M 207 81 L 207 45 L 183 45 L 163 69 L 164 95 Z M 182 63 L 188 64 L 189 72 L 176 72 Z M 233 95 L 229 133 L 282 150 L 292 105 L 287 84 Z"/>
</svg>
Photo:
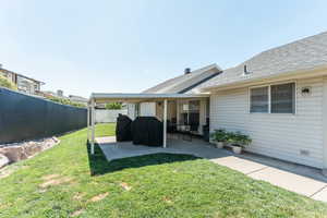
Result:
<svg viewBox="0 0 327 218">
<path fill-rule="evenodd" d="M 192 142 L 169 140 L 167 148 L 135 146 L 131 142 L 117 143 L 114 136 L 98 137 L 96 141 L 108 160 L 156 153 L 189 154 L 207 158 L 253 179 L 264 180 L 307 197 L 327 202 L 327 178 L 315 168 L 253 154 L 234 155 L 227 149 L 215 148 L 201 140 Z"/>
</svg>

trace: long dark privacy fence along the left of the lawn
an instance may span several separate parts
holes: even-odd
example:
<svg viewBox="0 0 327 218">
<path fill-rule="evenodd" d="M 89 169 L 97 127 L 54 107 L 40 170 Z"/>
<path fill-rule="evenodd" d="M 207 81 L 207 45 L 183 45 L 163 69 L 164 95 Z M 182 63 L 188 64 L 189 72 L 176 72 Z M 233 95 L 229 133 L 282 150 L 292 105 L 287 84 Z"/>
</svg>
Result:
<svg viewBox="0 0 327 218">
<path fill-rule="evenodd" d="M 52 136 L 87 125 L 87 110 L 0 88 L 0 144 Z"/>
</svg>

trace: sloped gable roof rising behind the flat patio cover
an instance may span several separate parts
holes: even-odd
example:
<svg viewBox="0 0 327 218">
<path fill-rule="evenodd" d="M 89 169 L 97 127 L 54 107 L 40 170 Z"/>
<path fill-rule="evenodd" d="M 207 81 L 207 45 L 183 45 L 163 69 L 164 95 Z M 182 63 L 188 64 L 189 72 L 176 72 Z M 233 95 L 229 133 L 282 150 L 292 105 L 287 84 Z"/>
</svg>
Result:
<svg viewBox="0 0 327 218">
<path fill-rule="evenodd" d="M 189 74 L 182 74 L 180 76 L 167 80 L 152 88 L 144 90 L 146 94 L 162 94 L 162 93 L 184 93 L 189 87 L 199 83 L 206 77 L 213 77 L 220 72 L 217 64 L 210 64 L 205 68 L 192 71 Z"/>
</svg>

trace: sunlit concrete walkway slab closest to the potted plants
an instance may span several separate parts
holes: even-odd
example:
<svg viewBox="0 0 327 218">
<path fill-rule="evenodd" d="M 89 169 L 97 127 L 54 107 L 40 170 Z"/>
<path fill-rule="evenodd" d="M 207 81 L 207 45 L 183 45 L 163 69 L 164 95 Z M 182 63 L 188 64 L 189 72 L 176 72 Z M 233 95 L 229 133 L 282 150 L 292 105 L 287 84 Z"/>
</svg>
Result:
<svg viewBox="0 0 327 218">
<path fill-rule="evenodd" d="M 249 174 L 251 172 L 256 172 L 258 170 L 262 170 L 262 169 L 265 169 L 268 167 L 268 166 L 265 166 L 265 165 L 262 165 L 258 162 L 254 162 L 251 160 L 242 159 L 242 158 L 235 157 L 235 156 L 215 158 L 215 159 L 210 159 L 210 160 L 218 165 L 222 165 L 222 166 L 229 167 L 233 170 L 243 172 L 244 174 Z"/>
</svg>

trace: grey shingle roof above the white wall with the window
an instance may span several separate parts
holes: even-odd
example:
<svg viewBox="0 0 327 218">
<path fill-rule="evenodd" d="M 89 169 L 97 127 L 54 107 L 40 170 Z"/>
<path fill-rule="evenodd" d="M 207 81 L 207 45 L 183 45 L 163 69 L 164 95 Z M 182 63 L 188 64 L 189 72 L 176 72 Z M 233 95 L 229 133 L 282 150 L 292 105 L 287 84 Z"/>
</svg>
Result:
<svg viewBox="0 0 327 218">
<path fill-rule="evenodd" d="M 244 65 L 251 72 L 243 75 Z M 247 61 L 227 70 L 198 88 L 210 88 L 249 78 L 262 78 L 274 74 L 312 70 L 327 65 L 327 32 L 310 36 L 261 52 Z"/>
</svg>

